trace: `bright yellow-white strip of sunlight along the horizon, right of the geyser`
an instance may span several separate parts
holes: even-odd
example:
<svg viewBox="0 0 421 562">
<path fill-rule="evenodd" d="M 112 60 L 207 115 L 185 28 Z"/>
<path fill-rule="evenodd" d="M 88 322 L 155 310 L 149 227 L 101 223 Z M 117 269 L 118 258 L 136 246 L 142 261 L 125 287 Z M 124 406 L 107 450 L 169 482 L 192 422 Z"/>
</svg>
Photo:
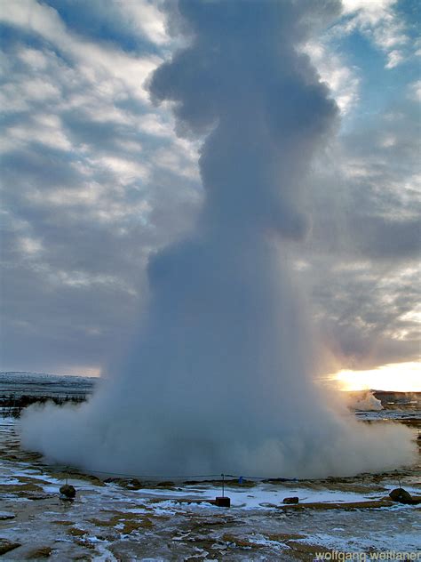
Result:
<svg viewBox="0 0 421 562">
<path fill-rule="evenodd" d="M 351 371 L 344 369 L 332 376 L 343 390 L 395 390 L 421 392 L 421 363 L 393 363 L 377 369 Z"/>
</svg>

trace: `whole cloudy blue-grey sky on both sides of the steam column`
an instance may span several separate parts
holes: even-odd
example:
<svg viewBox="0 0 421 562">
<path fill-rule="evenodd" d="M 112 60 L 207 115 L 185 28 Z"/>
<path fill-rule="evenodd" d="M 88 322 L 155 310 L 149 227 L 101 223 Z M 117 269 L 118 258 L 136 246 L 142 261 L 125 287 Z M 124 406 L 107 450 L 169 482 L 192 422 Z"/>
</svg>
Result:
<svg viewBox="0 0 421 562">
<path fill-rule="evenodd" d="M 410 373 L 412 388 L 419 11 L 345 0 L 299 45 L 340 123 L 303 189 L 306 237 L 283 248 L 325 350 L 321 374 L 380 368 L 384 380 Z M 201 139 L 178 136 L 170 102 L 147 88 L 183 40 L 145 0 L 1 0 L 0 33 L 0 369 L 99 374 L 136 333 L 149 256 L 185 236 L 203 205 Z"/>
</svg>

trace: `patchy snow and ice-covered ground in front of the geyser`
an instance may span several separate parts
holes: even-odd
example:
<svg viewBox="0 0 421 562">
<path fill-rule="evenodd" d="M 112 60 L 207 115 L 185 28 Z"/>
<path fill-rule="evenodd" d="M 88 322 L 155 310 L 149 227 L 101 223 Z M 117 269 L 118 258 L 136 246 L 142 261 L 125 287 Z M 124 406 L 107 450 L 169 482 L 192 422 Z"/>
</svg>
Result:
<svg viewBox="0 0 421 562">
<path fill-rule="evenodd" d="M 66 475 L 20 449 L 11 418 L 0 418 L 0 458 L 0 538 L 20 544 L 2 559 L 288 561 L 333 550 L 367 557 L 412 552 L 421 559 L 421 505 L 384 500 L 398 486 L 394 474 L 233 482 L 226 487 L 232 507 L 225 509 L 205 502 L 221 493 L 211 483 L 104 484 L 89 475 L 71 475 L 76 499 L 63 501 Z M 421 495 L 416 467 L 399 478 Z M 298 506 L 284 505 L 287 496 L 298 496 Z"/>
</svg>

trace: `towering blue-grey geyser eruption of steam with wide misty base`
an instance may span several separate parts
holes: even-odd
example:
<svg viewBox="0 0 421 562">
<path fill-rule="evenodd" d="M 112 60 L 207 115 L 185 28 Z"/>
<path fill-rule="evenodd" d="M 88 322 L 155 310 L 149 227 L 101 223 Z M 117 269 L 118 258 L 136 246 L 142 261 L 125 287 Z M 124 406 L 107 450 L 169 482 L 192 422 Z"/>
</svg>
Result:
<svg viewBox="0 0 421 562">
<path fill-rule="evenodd" d="M 94 470 L 317 477 L 412 461 L 409 432 L 368 429 L 314 385 L 285 247 L 338 110 L 296 47 L 336 2 L 168 4 L 190 37 L 152 76 L 179 134 L 207 135 L 194 232 L 151 257 L 151 301 L 118 373 L 74 409 L 22 421 L 26 446 Z M 387 444 L 385 444 L 387 439 Z"/>
</svg>

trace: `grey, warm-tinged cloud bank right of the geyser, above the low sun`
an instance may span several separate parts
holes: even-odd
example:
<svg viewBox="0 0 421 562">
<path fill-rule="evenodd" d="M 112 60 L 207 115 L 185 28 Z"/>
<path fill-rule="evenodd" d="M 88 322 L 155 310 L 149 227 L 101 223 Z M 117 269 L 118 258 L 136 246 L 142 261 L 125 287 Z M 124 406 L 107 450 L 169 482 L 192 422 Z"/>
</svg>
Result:
<svg viewBox="0 0 421 562">
<path fill-rule="evenodd" d="M 393 102 L 330 149 L 307 189 L 303 277 L 342 365 L 419 356 L 418 129 L 412 101 Z"/>
</svg>

